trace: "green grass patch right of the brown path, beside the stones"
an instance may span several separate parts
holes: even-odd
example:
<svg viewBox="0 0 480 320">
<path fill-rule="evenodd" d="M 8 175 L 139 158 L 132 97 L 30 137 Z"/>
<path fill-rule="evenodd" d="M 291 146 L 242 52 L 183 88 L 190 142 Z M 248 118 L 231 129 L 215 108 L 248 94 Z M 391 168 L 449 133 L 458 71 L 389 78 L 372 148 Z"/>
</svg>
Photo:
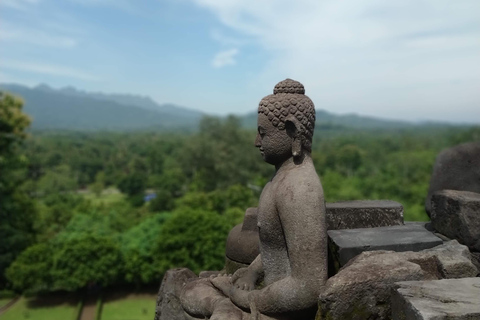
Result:
<svg viewBox="0 0 480 320">
<path fill-rule="evenodd" d="M 152 320 L 156 295 L 130 294 L 120 299 L 106 299 L 102 320 Z M 2 319 L 3 320 L 3 319 Z"/>
</svg>

